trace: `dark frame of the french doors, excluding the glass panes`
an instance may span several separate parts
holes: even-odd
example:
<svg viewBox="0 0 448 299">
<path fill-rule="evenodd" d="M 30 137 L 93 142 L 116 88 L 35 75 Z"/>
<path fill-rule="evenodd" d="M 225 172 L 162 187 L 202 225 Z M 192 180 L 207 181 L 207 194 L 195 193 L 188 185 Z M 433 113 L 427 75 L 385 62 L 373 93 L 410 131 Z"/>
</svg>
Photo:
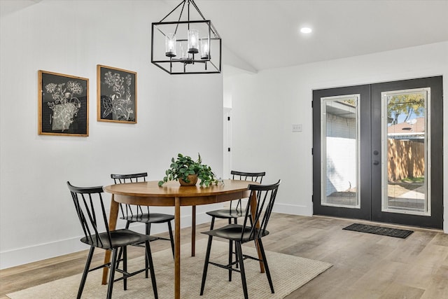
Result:
<svg viewBox="0 0 448 299">
<path fill-rule="evenodd" d="M 431 89 L 431 136 L 439 136 L 435 140 L 431 138 L 431 216 L 417 216 L 409 214 L 398 214 L 381 212 L 381 170 L 372 167 L 374 160 L 381 156 L 373 154 L 381 148 L 372 148 L 372 144 L 381 145 L 381 126 L 373 126 L 371 120 L 381 119 L 381 92 L 391 90 L 407 90 L 414 88 Z M 329 207 L 321 205 L 321 97 L 332 97 L 337 95 L 360 94 L 360 209 L 346 207 Z M 379 95 L 379 99 L 377 96 Z M 358 218 L 385 223 L 399 223 L 415 225 L 428 228 L 442 228 L 443 225 L 443 101 L 442 101 L 442 76 L 417 78 L 388 83 L 375 83 L 367 85 L 356 85 L 342 88 L 328 88 L 313 90 L 313 214 L 337 216 L 344 218 Z M 372 137 L 372 138 L 371 138 Z M 373 141 L 372 141 L 373 140 Z M 379 143 L 378 143 L 379 141 Z M 379 174 L 379 175 L 378 175 Z M 316 183 L 318 182 L 318 183 Z M 378 185 L 379 184 L 379 185 Z M 379 200 L 372 200 L 372 197 Z M 437 208 L 438 207 L 438 208 Z M 442 207 L 442 208 L 440 208 Z"/>
</svg>

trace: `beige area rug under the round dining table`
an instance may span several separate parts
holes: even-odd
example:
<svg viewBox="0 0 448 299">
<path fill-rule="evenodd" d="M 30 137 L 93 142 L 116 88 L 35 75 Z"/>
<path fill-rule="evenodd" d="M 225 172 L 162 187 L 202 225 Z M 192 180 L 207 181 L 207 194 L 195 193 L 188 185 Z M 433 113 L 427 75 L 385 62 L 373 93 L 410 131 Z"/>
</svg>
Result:
<svg viewBox="0 0 448 299">
<path fill-rule="evenodd" d="M 204 267 L 207 240 L 197 241 L 196 256 L 190 256 L 190 244 L 181 246 L 181 298 L 244 298 L 241 277 L 238 272 L 228 281 L 228 270 L 209 265 L 204 295 L 200 296 L 202 269 Z M 243 246 L 245 254 L 255 255 L 255 249 Z M 260 273 L 257 260 L 244 261 L 248 295 L 250 298 L 284 298 L 300 286 L 327 270 L 332 265 L 318 260 L 310 260 L 299 256 L 266 251 L 267 262 L 271 272 L 275 293 L 272 294 L 266 274 Z M 228 260 L 228 243 L 215 241 L 211 249 L 211 261 L 225 263 Z M 174 261 L 171 249 L 153 253 L 155 277 L 159 298 L 174 298 Z M 141 268 L 143 256 L 128 262 L 128 269 Z M 117 273 L 118 275 L 119 273 Z M 23 298 L 76 298 L 81 274 L 58 279 L 46 284 L 27 288 L 8 294 L 12 299 Z M 107 286 L 101 284 L 102 270 L 90 272 L 83 291 L 83 298 L 106 298 Z M 127 291 L 123 291 L 123 281 L 113 286 L 113 298 L 154 298 L 151 279 L 145 279 L 144 273 L 127 279 Z"/>
</svg>

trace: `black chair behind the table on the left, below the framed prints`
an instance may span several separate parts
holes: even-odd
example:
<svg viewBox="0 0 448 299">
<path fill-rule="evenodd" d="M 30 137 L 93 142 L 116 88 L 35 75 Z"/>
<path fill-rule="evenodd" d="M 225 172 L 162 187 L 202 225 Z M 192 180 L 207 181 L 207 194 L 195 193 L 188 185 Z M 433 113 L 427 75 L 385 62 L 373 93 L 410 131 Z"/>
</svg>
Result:
<svg viewBox="0 0 448 299">
<path fill-rule="evenodd" d="M 111 178 L 114 183 L 138 183 L 141 181 L 146 181 L 148 172 L 141 172 L 139 174 L 111 174 Z M 174 258 L 174 237 L 173 230 L 171 226 L 171 221 L 174 220 L 174 215 L 161 214 L 161 213 L 150 213 L 148 206 L 140 206 L 134 204 L 122 204 L 120 203 L 121 219 L 126 221 L 125 228 L 129 228 L 131 223 L 138 222 L 145 224 L 146 235 L 151 235 L 151 223 L 167 223 L 169 239 L 164 237 L 154 237 L 153 240 L 164 239 L 171 242 L 171 249 Z M 137 244 L 139 246 L 139 244 Z M 121 251 L 118 254 L 118 260 L 121 258 Z M 146 266 L 148 266 L 148 261 L 146 261 Z M 146 277 L 148 277 L 148 272 L 146 272 Z"/>
</svg>

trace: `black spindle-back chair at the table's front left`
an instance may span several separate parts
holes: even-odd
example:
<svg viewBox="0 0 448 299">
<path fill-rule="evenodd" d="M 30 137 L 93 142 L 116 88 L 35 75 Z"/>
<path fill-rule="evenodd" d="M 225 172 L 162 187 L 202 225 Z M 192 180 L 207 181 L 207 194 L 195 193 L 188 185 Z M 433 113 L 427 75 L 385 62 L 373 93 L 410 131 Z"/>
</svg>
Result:
<svg viewBox="0 0 448 299">
<path fill-rule="evenodd" d="M 103 201 L 103 187 L 76 187 L 67 181 L 73 204 L 75 204 L 76 214 L 83 228 L 84 237 L 80 239 L 81 242 L 90 246 L 90 251 L 87 256 L 83 277 L 81 278 L 78 295 L 76 298 L 81 298 L 87 274 L 94 270 L 99 270 L 104 267 L 110 268 L 109 286 L 107 288 L 106 298 L 112 297 L 113 283 L 115 281 L 123 280 L 123 289 L 127 289 L 127 278 L 135 274 L 149 270 L 151 272 L 151 281 L 153 284 L 153 292 L 155 298 L 158 298 L 157 285 L 155 283 L 153 258 L 151 255 L 151 247 L 149 243 L 155 239 L 149 235 L 139 234 L 132 230 L 120 229 L 109 230 L 109 221 L 106 216 L 106 209 Z M 127 272 L 127 246 L 133 244 L 145 244 L 146 260 L 148 260 L 148 267 L 137 270 L 135 272 Z M 95 248 L 112 251 L 112 258 L 110 263 L 99 265 L 90 269 Z M 118 249 L 123 249 L 123 267 L 118 268 Z M 115 272 L 123 274 L 118 279 L 115 278 Z"/>
</svg>

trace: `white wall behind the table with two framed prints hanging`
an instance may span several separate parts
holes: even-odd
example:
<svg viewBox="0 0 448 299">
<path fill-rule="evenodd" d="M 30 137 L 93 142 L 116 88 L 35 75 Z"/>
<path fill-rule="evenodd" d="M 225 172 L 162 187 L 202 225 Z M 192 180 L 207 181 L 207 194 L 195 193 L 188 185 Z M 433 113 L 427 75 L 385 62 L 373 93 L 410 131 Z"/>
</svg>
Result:
<svg viewBox="0 0 448 299">
<path fill-rule="evenodd" d="M 164 1 L 43 0 L 2 16 L 1 268 L 85 249 L 66 181 L 109 185 L 111 173 L 144 171 L 159 180 L 179 152 L 200 152 L 222 176 L 222 75 L 170 76 L 151 64 L 151 22 L 170 9 Z M 137 124 L 97 122 L 97 64 L 137 71 Z M 90 79 L 89 137 L 37 134 L 39 69 Z M 204 209 L 198 223 L 209 221 Z"/>
</svg>

